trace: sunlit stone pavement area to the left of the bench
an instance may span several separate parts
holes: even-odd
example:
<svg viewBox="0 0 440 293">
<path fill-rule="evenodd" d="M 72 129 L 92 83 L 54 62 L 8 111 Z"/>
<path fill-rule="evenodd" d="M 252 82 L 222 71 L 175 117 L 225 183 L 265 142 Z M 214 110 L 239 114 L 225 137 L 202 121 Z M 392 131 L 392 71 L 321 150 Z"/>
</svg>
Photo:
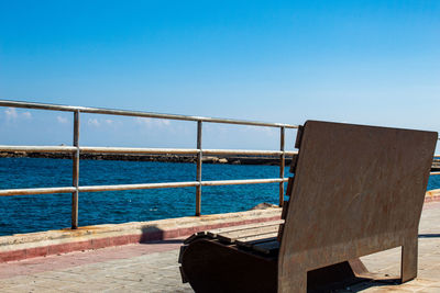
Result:
<svg viewBox="0 0 440 293">
<path fill-rule="evenodd" d="M 183 284 L 182 239 L 0 264 L 0 292 L 193 292 Z"/>
</svg>

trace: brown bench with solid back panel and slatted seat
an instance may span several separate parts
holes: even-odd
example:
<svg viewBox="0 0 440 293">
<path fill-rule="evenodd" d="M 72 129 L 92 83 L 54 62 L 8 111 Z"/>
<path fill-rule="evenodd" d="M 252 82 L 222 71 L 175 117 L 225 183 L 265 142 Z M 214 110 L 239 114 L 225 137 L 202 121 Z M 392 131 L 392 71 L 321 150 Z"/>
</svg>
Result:
<svg viewBox="0 0 440 293">
<path fill-rule="evenodd" d="M 324 291 L 366 275 L 359 257 L 402 246 L 417 275 L 418 224 L 438 134 L 307 121 L 278 222 L 201 232 L 180 249 L 196 292 Z"/>
</svg>

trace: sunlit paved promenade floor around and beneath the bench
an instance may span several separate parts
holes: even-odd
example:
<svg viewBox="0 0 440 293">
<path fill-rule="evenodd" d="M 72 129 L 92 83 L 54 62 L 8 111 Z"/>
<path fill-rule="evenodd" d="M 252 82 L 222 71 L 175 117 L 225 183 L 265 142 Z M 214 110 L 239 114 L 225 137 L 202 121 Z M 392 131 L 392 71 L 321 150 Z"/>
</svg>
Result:
<svg viewBox="0 0 440 293">
<path fill-rule="evenodd" d="M 193 292 L 183 284 L 182 239 L 125 245 L 0 264 L 0 292 Z M 363 258 L 374 272 L 399 273 L 399 249 Z M 402 285 L 362 283 L 340 292 L 440 292 L 440 202 L 425 204 L 419 272 Z"/>
</svg>

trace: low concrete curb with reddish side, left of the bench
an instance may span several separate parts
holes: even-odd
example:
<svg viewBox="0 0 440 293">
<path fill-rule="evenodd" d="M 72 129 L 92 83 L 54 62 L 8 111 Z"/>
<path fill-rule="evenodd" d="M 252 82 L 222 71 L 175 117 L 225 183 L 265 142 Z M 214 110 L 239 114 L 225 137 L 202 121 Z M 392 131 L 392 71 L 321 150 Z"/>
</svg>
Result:
<svg viewBox="0 0 440 293">
<path fill-rule="evenodd" d="M 279 219 L 280 209 L 106 224 L 0 237 L 0 262 L 45 257 L 78 250 L 165 240 L 196 232 Z"/>
</svg>

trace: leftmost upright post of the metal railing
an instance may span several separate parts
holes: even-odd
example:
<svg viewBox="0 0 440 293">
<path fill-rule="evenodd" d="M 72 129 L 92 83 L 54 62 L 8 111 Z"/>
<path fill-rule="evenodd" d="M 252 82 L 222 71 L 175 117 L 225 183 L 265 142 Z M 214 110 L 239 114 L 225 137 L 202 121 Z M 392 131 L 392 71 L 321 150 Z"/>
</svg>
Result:
<svg viewBox="0 0 440 293">
<path fill-rule="evenodd" d="M 74 112 L 74 146 L 77 147 L 74 153 L 73 164 L 73 187 L 76 191 L 72 193 L 72 228 L 78 228 L 78 185 L 79 185 L 79 110 Z"/>
</svg>

